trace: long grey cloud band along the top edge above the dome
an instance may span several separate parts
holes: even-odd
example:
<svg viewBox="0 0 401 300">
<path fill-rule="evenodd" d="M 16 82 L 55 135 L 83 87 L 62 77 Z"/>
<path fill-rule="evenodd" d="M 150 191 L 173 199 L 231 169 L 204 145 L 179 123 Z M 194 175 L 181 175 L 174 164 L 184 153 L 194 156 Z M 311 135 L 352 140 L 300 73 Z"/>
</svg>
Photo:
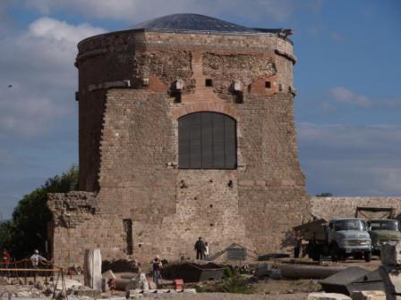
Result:
<svg viewBox="0 0 401 300">
<path fill-rule="evenodd" d="M 287 20 L 294 12 L 296 4 L 290 0 L 25 0 L 30 7 L 42 13 L 57 9 L 97 18 L 132 21 L 144 21 L 160 15 L 177 12 L 196 12 L 218 15 L 246 16 L 250 18 L 272 18 L 276 21 Z M 303 4 L 310 10 L 316 10 L 320 1 Z"/>
</svg>

